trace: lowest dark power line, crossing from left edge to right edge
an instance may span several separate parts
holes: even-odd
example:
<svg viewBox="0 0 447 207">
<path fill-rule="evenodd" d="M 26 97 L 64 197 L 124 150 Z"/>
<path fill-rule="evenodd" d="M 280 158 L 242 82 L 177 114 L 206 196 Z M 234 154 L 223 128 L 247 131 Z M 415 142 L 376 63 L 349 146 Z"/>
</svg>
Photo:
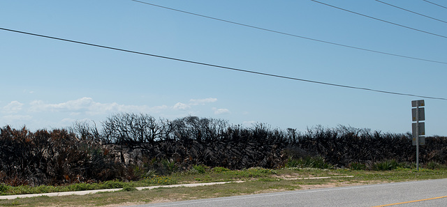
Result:
<svg viewBox="0 0 447 207">
<path fill-rule="evenodd" d="M 158 58 L 161 58 L 161 59 L 168 59 L 168 60 L 173 60 L 173 61 L 181 61 L 181 62 L 185 62 L 185 63 L 193 63 L 193 64 L 202 65 L 202 66 L 210 66 L 210 67 L 221 68 L 221 69 L 226 69 L 226 70 L 235 70 L 235 71 L 238 71 L 238 72 L 248 72 L 248 73 L 252 73 L 252 74 L 256 74 L 256 75 L 265 75 L 265 76 L 269 76 L 269 77 L 279 77 L 279 78 L 282 78 L 282 79 L 291 79 L 291 80 L 300 81 L 300 82 L 309 82 L 309 83 L 314 83 L 314 84 L 323 84 L 323 85 L 327 85 L 327 86 L 337 86 L 337 87 L 342 87 L 342 88 L 347 88 L 347 89 L 358 89 L 358 90 L 363 90 L 363 91 L 373 91 L 373 92 L 377 92 L 377 93 L 388 93 L 388 94 L 393 94 L 393 95 L 406 95 L 406 96 L 412 96 L 412 97 L 418 97 L 418 98 L 447 100 L 447 98 L 437 98 L 437 97 L 430 97 L 430 96 L 425 96 L 425 95 L 414 95 L 414 94 L 410 94 L 410 93 L 398 93 L 398 92 L 393 92 L 393 91 L 381 91 L 381 90 L 368 89 L 368 88 L 362 88 L 362 87 L 357 87 L 357 86 L 347 86 L 347 85 L 342 85 L 342 84 L 331 84 L 331 83 L 328 83 L 328 82 L 318 82 L 318 81 L 309 80 L 309 79 L 300 79 L 300 78 L 288 77 L 288 76 L 284 76 L 284 75 L 274 75 L 274 74 L 271 74 L 271 73 L 256 72 L 256 71 L 253 71 L 253 70 L 244 70 L 244 69 L 240 69 L 240 68 L 230 68 L 230 67 L 218 66 L 218 65 L 214 65 L 214 64 L 210 64 L 210 63 L 201 63 L 201 62 L 197 62 L 197 61 L 189 61 L 189 60 L 185 60 L 185 59 L 177 59 L 177 58 L 168 57 L 168 56 L 161 56 L 161 55 L 156 55 L 156 54 L 148 54 L 148 53 L 145 53 L 145 52 L 136 52 L 136 51 L 132 51 L 132 50 L 129 50 L 129 49 L 119 49 L 117 47 L 108 47 L 108 46 L 96 45 L 96 44 L 92 44 L 92 43 L 80 42 L 80 41 L 76 41 L 76 40 L 68 40 L 68 39 L 64 39 L 64 38 L 57 38 L 57 37 L 52 37 L 52 36 L 44 36 L 44 35 L 41 35 L 41 34 L 29 33 L 29 32 L 25 32 L 25 31 L 17 31 L 17 30 L 6 29 L 6 28 L 1 28 L 1 27 L 0 27 L 0 29 L 4 30 L 4 31 L 10 31 L 10 32 L 15 32 L 15 33 L 22 33 L 22 34 L 26 34 L 26 35 L 30 35 L 30 36 L 38 36 L 38 37 L 41 37 L 41 38 L 50 38 L 50 39 L 54 39 L 54 40 L 66 41 L 66 42 L 69 42 L 69 43 L 78 43 L 78 44 L 81 44 L 81 45 L 89 45 L 89 46 L 101 47 L 101 48 L 105 48 L 105 49 L 113 49 L 113 50 L 117 50 L 117 51 L 121 51 L 121 52 L 129 52 L 129 53 L 133 53 L 133 54 L 142 54 L 142 55 L 145 55 L 145 56 L 154 56 L 154 57 L 158 57 Z"/>
</svg>

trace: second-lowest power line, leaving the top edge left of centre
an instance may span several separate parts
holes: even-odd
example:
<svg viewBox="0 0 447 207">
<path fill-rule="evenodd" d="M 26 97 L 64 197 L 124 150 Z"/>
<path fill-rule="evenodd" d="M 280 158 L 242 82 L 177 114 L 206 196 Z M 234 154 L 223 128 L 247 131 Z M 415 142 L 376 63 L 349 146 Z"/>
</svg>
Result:
<svg viewBox="0 0 447 207">
<path fill-rule="evenodd" d="M 180 12 L 180 13 L 186 13 L 186 14 L 189 14 L 189 15 L 196 15 L 196 16 L 199 16 L 199 17 L 205 17 L 205 18 L 208 18 L 208 19 L 217 20 L 217 21 L 221 21 L 221 22 L 227 22 L 227 23 L 230 23 L 230 24 L 237 24 L 237 25 L 240 25 L 240 26 L 247 26 L 247 27 L 250 27 L 250 28 L 253 28 L 253 29 L 260 29 L 260 30 L 263 30 L 263 31 L 270 31 L 270 32 L 273 32 L 273 33 L 279 33 L 279 34 L 282 34 L 282 35 L 292 36 L 292 37 L 295 37 L 295 38 L 302 38 L 302 39 L 306 39 L 306 40 L 312 40 L 312 41 L 316 41 L 316 42 L 319 42 L 319 43 L 327 43 L 327 44 L 330 44 L 330 45 L 337 45 L 337 46 L 341 46 L 341 47 L 348 47 L 348 48 L 351 48 L 351 49 L 360 49 L 360 50 L 367 51 L 367 52 L 375 52 L 375 53 L 386 54 L 386 55 L 390 55 L 390 56 L 398 56 L 398 57 L 402 57 L 402 58 L 406 58 L 406 59 L 414 59 L 414 60 L 418 60 L 418 61 L 428 61 L 428 62 L 432 62 L 432 63 L 447 64 L 447 62 L 443 62 L 443 61 L 433 61 L 433 60 L 430 60 L 430 59 L 421 59 L 421 58 L 412 57 L 412 56 L 404 56 L 404 55 L 393 54 L 393 53 L 389 53 L 389 52 L 380 52 L 380 51 L 373 50 L 373 49 L 365 49 L 365 48 L 362 48 L 362 47 L 354 47 L 354 46 L 350 46 L 350 45 L 343 45 L 343 44 L 339 44 L 339 43 L 332 43 L 332 42 L 325 41 L 325 40 L 318 40 L 318 39 L 314 39 L 314 38 L 307 38 L 305 36 L 298 36 L 298 35 L 294 35 L 294 34 L 291 34 L 291 33 L 275 31 L 275 30 L 272 30 L 272 29 L 265 29 L 265 28 L 258 27 L 258 26 L 251 26 L 249 24 L 242 24 L 242 23 L 238 23 L 238 22 L 232 22 L 232 21 L 228 21 L 228 20 L 219 19 L 219 18 L 216 18 L 216 17 L 200 15 L 198 13 L 190 13 L 190 12 L 185 11 L 185 10 L 178 10 L 178 9 L 169 8 L 169 7 L 166 7 L 166 6 L 159 6 L 159 5 L 156 5 L 154 3 L 147 3 L 147 2 L 144 2 L 144 1 L 137 1 L 137 0 L 131 0 L 131 1 L 135 1 L 135 2 L 138 2 L 138 3 L 145 3 L 145 4 L 150 5 L 150 6 L 156 6 L 156 7 L 159 7 L 159 8 L 165 8 L 165 9 L 168 9 L 168 10 L 174 10 L 174 11 L 177 11 L 177 12 Z"/>
</svg>

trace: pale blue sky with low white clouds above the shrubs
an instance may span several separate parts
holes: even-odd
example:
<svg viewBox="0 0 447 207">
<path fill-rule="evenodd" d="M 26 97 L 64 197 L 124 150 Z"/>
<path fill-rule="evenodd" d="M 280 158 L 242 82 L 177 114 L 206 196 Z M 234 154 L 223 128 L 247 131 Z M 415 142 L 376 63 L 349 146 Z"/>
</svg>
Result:
<svg viewBox="0 0 447 207">
<path fill-rule="evenodd" d="M 432 0 L 439 4 L 443 1 Z M 297 36 L 447 62 L 447 38 L 300 1 L 146 1 Z M 321 1 L 447 36 L 447 24 L 378 1 Z M 419 0 L 386 1 L 447 21 Z M 447 5 L 446 5 L 447 6 Z M 331 84 L 447 98 L 447 64 L 284 36 L 130 0 L 1 1 L 0 27 Z M 101 123 L 119 112 L 221 118 L 306 130 L 411 131 L 404 95 L 183 63 L 0 30 L 0 125 Z M 427 135 L 447 136 L 447 101 L 425 98 Z"/>
</svg>

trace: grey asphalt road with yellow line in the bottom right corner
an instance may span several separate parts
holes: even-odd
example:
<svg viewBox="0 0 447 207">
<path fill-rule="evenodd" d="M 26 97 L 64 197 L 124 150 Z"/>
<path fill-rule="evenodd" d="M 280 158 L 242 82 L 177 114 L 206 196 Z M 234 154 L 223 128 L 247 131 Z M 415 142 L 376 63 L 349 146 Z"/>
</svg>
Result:
<svg viewBox="0 0 447 207">
<path fill-rule="evenodd" d="M 404 203 L 408 202 L 408 203 Z M 390 205 L 392 204 L 392 205 Z M 331 187 L 142 206 L 447 206 L 447 179 Z"/>
</svg>

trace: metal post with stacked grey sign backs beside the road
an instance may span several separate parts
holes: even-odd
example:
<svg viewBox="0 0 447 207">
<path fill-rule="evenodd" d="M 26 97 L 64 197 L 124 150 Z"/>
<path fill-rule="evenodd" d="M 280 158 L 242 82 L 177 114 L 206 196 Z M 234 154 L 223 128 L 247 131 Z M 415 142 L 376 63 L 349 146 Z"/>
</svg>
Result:
<svg viewBox="0 0 447 207">
<path fill-rule="evenodd" d="M 425 144 L 425 137 L 420 137 L 420 135 L 425 135 L 425 123 L 419 123 L 419 121 L 425 121 L 425 106 L 424 100 L 413 100 L 411 101 L 411 107 L 416 107 L 411 109 L 411 115 L 413 116 L 412 121 L 416 123 L 411 124 L 412 128 L 412 138 L 413 145 L 416 145 L 416 168 L 419 170 L 419 145 Z"/>
</svg>

